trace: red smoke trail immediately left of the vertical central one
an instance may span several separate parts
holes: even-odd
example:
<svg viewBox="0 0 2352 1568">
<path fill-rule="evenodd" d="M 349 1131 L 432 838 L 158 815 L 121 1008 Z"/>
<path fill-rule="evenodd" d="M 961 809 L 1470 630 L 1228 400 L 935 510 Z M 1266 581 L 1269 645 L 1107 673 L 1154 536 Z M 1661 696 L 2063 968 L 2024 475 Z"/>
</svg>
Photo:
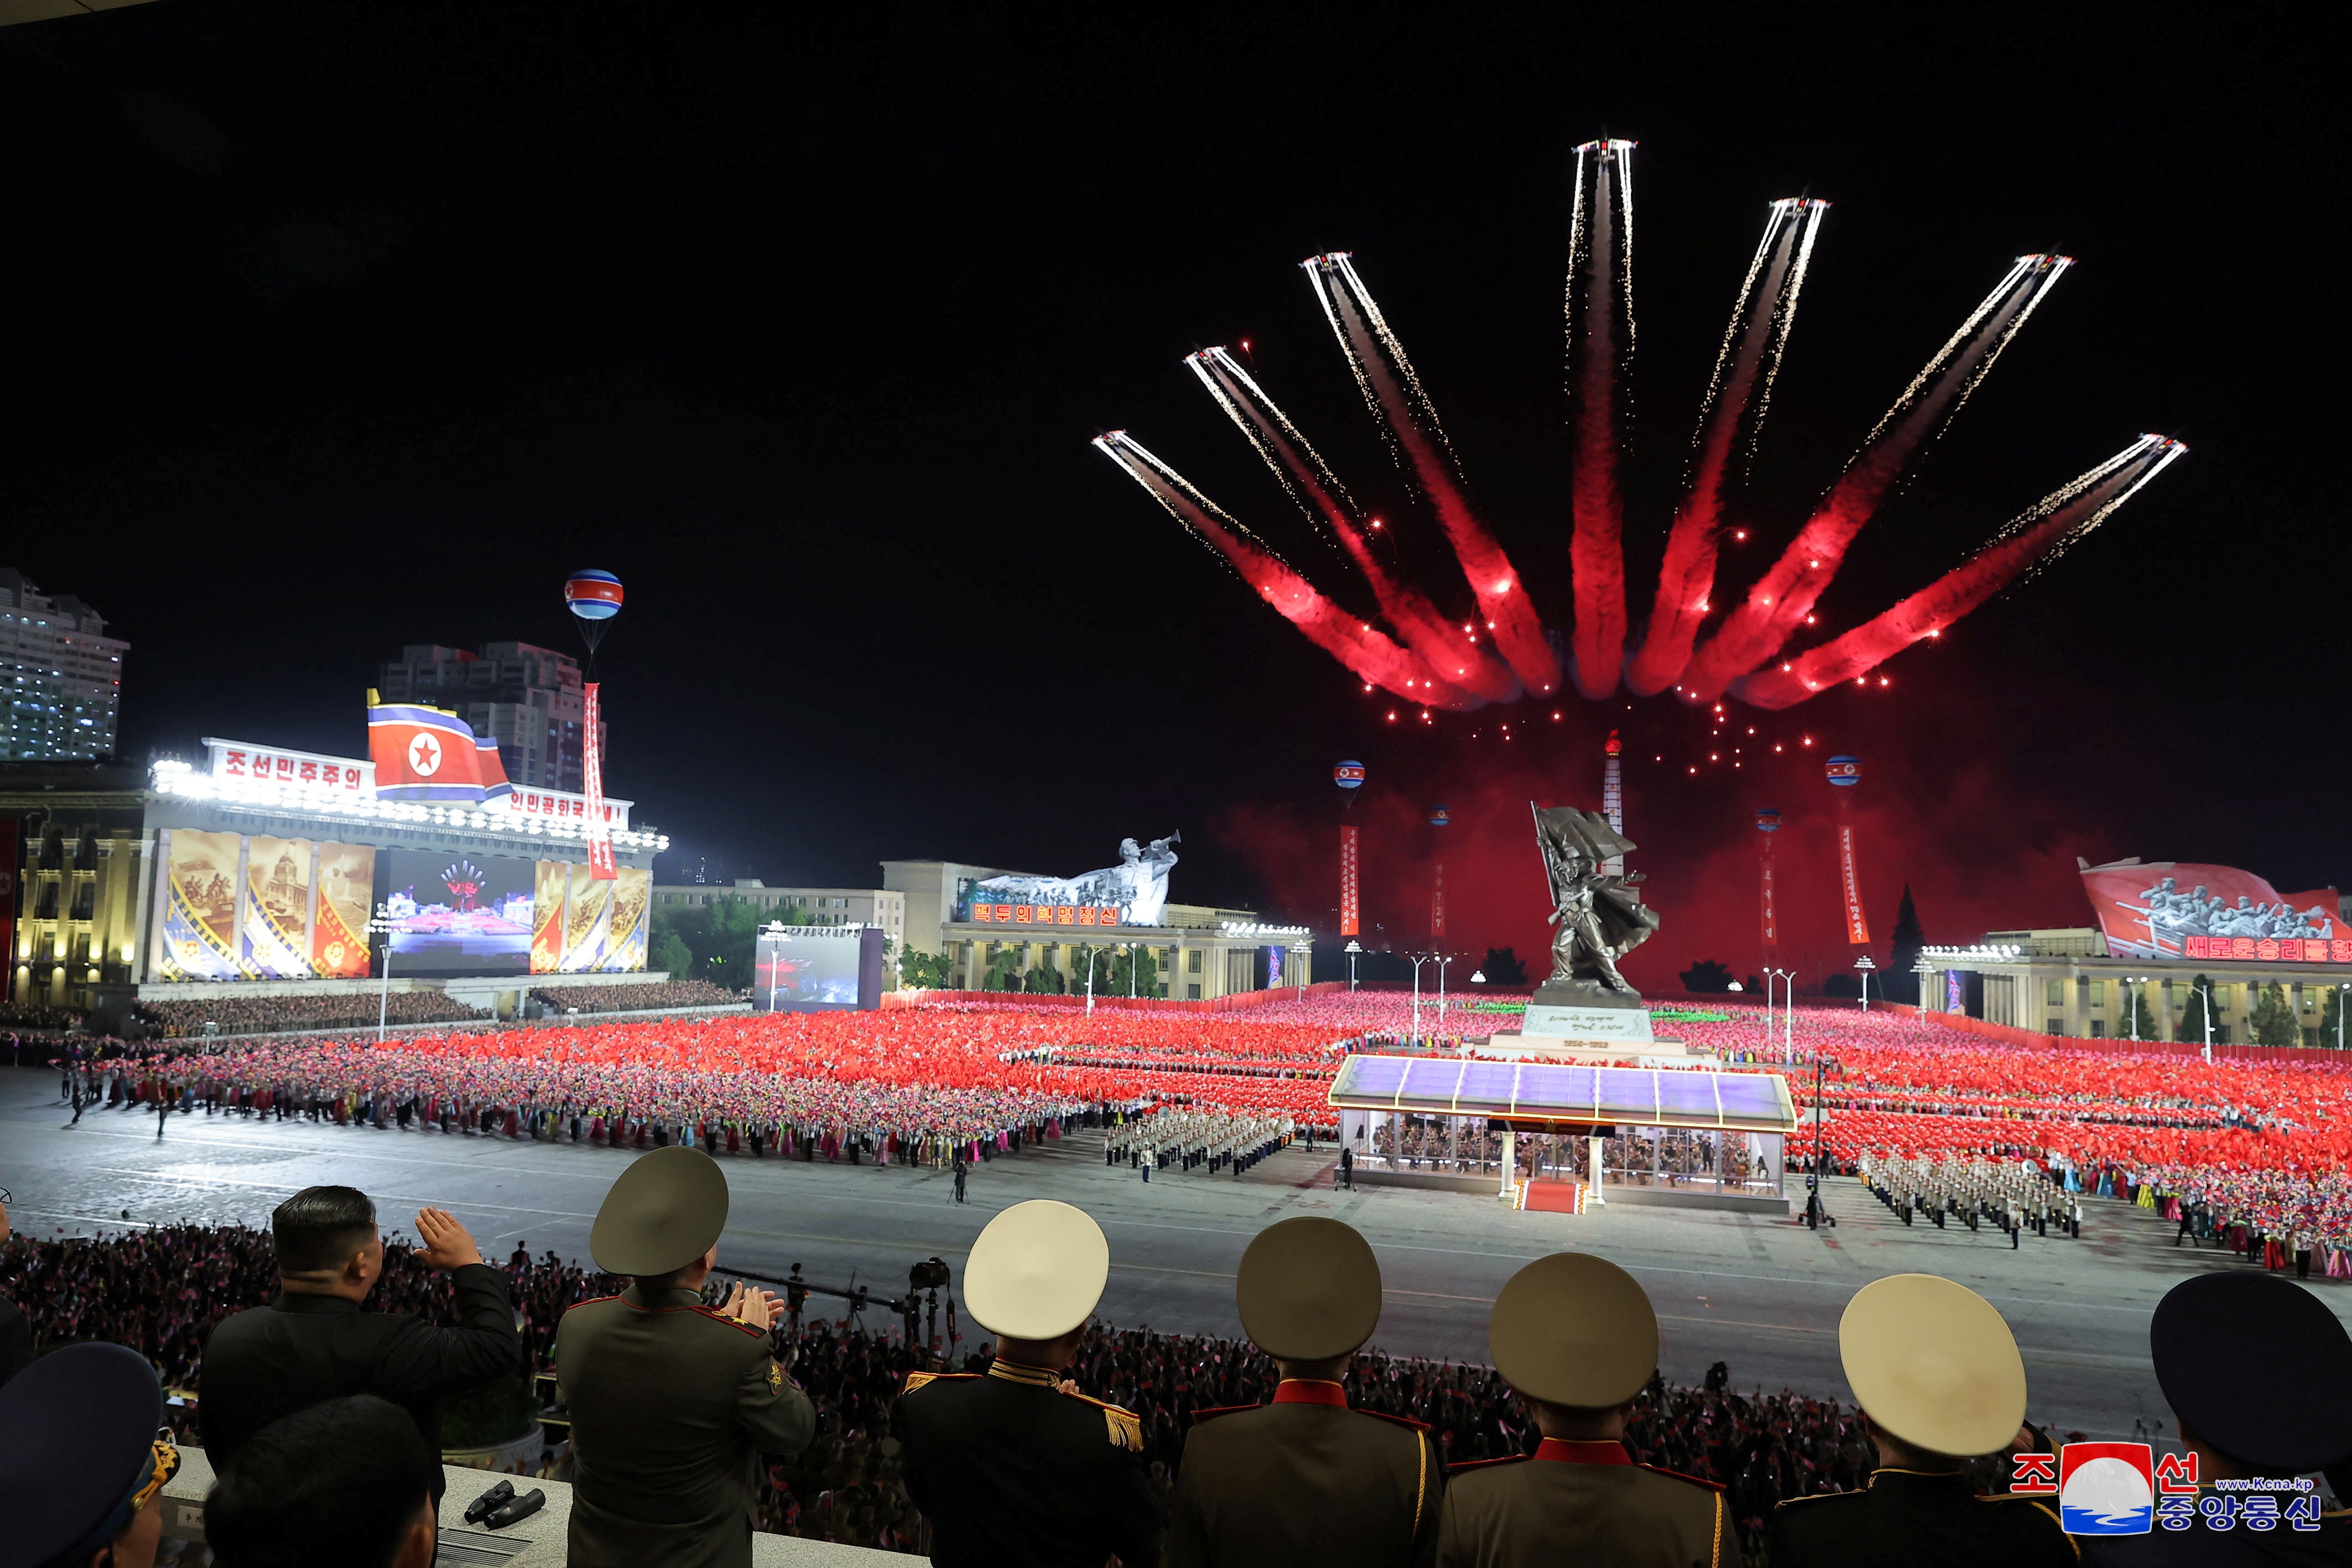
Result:
<svg viewBox="0 0 2352 1568">
<path fill-rule="evenodd" d="M 1315 284 L 1315 296 L 1355 367 L 1364 400 L 1388 421 L 1421 491 L 1437 508 L 1437 522 L 1444 524 L 1454 557 L 1470 578 L 1479 616 L 1494 630 L 1496 651 L 1529 691 L 1550 696 L 1559 686 L 1559 656 L 1543 635 L 1543 618 L 1526 597 L 1519 571 L 1470 510 L 1470 498 L 1463 496 L 1461 477 L 1454 473 L 1454 449 L 1446 444 L 1444 425 L 1437 423 L 1437 409 L 1421 390 L 1421 378 L 1414 376 L 1411 360 L 1404 357 L 1404 346 L 1381 320 L 1381 308 L 1348 266 L 1345 252 L 1312 256 L 1298 266 Z"/>
</svg>

